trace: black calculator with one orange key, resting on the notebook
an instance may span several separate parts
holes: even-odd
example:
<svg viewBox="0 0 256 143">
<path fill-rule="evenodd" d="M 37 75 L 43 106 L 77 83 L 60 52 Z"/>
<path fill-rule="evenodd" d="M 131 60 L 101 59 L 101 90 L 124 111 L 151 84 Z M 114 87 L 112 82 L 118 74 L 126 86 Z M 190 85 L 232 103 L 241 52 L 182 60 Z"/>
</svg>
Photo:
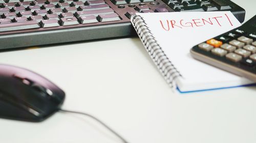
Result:
<svg viewBox="0 0 256 143">
<path fill-rule="evenodd" d="M 256 15 L 238 28 L 190 50 L 202 62 L 256 82 Z"/>
</svg>

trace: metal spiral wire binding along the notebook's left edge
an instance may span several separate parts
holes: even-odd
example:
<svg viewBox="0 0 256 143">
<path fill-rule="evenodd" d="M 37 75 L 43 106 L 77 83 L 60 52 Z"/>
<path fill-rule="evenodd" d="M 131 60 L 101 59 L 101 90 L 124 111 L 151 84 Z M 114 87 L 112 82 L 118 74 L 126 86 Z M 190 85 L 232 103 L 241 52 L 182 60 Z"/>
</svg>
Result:
<svg viewBox="0 0 256 143">
<path fill-rule="evenodd" d="M 147 24 L 143 18 L 139 15 L 135 15 L 133 18 L 133 26 L 144 44 L 147 52 L 150 54 L 152 60 L 162 73 L 164 79 L 170 85 L 171 88 L 175 89 L 175 78 L 182 77 L 180 72 L 175 68 L 172 62 L 169 61 L 164 51 L 158 44 L 151 31 L 146 26 Z"/>
</svg>

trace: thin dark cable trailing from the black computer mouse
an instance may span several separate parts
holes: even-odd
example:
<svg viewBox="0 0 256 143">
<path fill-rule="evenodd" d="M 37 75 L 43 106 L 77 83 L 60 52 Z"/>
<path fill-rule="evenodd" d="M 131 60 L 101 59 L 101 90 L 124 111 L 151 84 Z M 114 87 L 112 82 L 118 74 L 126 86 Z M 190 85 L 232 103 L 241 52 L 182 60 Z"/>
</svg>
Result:
<svg viewBox="0 0 256 143">
<path fill-rule="evenodd" d="M 124 143 L 128 143 L 128 141 L 126 141 L 121 135 L 119 135 L 117 132 L 115 132 L 113 129 L 111 129 L 109 126 L 107 126 L 105 123 L 103 123 L 102 121 L 100 121 L 99 119 L 97 119 L 96 117 L 93 117 L 92 115 L 89 115 L 88 113 L 84 113 L 84 112 L 79 112 L 79 111 L 71 111 L 71 110 L 65 110 L 65 109 L 59 109 L 62 112 L 71 112 L 71 113 L 78 113 L 81 115 L 85 115 L 88 117 L 91 117 L 92 119 L 96 120 L 97 122 L 99 122 L 101 125 L 103 125 L 105 128 L 107 128 L 108 130 L 110 130 L 113 134 L 115 134 L 118 138 L 120 138 Z"/>
</svg>

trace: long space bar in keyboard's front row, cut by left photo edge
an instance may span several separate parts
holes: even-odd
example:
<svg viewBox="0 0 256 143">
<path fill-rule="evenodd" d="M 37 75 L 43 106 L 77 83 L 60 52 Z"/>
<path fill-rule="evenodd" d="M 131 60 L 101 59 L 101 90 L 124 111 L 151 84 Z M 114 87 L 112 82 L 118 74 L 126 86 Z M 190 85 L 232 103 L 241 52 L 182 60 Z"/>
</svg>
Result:
<svg viewBox="0 0 256 143">
<path fill-rule="evenodd" d="M 32 28 L 39 28 L 37 21 L 14 22 L 8 24 L 0 24 L 0 32 L 27 30 Z"/>
</svg>

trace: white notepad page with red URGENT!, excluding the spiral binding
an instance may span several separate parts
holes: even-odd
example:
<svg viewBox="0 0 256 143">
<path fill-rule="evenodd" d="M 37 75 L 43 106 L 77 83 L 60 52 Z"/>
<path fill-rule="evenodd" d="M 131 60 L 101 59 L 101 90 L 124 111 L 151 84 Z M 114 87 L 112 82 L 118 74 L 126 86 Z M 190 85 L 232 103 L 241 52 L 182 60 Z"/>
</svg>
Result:
<svg viewBox="0 0 256 143">
<path fill-rule="evenodd" d="M 241 23 L 231 12 L 137 13 L 183 78 L 176 84 L 182 92 L 236 87 L 253 83 L 193 59 L 189 50 Z"/>
</svg>

